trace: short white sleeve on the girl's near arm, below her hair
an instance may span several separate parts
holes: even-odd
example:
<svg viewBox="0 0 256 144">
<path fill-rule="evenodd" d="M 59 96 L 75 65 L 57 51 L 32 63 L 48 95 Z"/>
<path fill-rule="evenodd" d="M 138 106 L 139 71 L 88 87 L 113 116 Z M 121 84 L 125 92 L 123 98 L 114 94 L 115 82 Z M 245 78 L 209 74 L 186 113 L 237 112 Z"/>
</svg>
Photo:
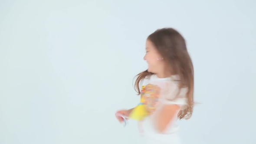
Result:
<svg viewBox="0 0 256 144">
<path fill-rule="evenodd" d="M 187 88 L 179 88 L 178 81 L 153 81 L 159 88 L 159 102 L 167 105 L 187 105 Z"/>
</svg>

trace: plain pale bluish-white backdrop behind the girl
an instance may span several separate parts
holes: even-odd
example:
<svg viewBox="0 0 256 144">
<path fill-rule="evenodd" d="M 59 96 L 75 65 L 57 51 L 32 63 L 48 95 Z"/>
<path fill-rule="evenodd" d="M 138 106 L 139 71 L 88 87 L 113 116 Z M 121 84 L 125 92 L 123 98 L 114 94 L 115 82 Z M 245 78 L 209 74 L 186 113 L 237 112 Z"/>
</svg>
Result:
<svg viewBox="0 0 256 144">
<path fill-rule="evenodd" d="M 187 40 L 197 102 L 184 144 L 256 144 L 255 0 L 0 0 L 0 144 L 140 144 L 145 39 Z"/>
</svg>

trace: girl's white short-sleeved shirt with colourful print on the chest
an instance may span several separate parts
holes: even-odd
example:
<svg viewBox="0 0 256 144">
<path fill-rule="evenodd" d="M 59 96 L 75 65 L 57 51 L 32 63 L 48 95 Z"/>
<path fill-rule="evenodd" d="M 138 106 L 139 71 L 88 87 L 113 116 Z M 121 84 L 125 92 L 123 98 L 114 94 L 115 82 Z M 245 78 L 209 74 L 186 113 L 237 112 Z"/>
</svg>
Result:
<svg viewBox="0 0 256 144">
<path fill-rule="evenodd" d="M 179 130 L 177 117 L 174 118 L 174 121 L 170 122 L 164 133 L 159 133 L 156 130 L 156 118 L 164 105 L 180 105 L 180 110 L 186 108 L 187 88 L 179 89 L 179 77 L 177 75 L 163 79 L 158 78 L 157 75 L 151 75 L 151 77 L 144 79 L 141 83 L 141 91 L 144 90 L 141 92 L 141 97 L 148 98 L 150 102 L 146 102 L 147 105 L 152 107 L 152 109 L 155 108 L 152 114 L 142 121 L 142 130 L 146 144 L 180 144 L 180 139 L 177 135 Z M 158 93 L 154 93 L 155 91 L 158 91 Z"/>
</svg>

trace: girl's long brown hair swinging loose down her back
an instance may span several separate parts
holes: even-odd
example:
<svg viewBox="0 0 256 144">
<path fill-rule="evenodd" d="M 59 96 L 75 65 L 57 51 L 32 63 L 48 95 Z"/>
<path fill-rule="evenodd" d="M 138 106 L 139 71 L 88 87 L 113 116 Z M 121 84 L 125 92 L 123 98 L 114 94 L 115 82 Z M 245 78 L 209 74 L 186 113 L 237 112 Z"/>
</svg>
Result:
<svg viewBox="0 0 256 144">
<path fill-rule="evenodd" d="M 170 72 L 180 77 L 180 88 L 187 87 L 187 102 L 188 106 L 178 114 L 178 118 L 189 119 L 194 107 L 194 68 L 185 39 L 177 30 L 172 28 L 158 29 L 148 36 L 154 47 L 158 50 L 165 62 L 170 66 Z M 135 90 L 140 92 L 140 82 L 142 79 L 147 79 L 153 73 L 148 70 L 139 73 L 135 81 Z"/>
</svg>

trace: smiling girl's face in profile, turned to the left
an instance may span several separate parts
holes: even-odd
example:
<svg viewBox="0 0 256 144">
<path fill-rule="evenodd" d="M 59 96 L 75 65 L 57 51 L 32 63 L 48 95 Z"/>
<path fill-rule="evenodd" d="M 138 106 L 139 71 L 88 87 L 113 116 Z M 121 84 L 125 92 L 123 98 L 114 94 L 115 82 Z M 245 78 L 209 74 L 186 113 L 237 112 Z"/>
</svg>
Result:
<svg viewBox="0 0 256 144">
<path fill-rule="evenodd" d="M 144 60 L 148 63 L 148 72 L 156 74 L 163 68 L 163 58 L 149 40 L 146 41 L 146 55 L 144 56 Z"/>
</svg>

